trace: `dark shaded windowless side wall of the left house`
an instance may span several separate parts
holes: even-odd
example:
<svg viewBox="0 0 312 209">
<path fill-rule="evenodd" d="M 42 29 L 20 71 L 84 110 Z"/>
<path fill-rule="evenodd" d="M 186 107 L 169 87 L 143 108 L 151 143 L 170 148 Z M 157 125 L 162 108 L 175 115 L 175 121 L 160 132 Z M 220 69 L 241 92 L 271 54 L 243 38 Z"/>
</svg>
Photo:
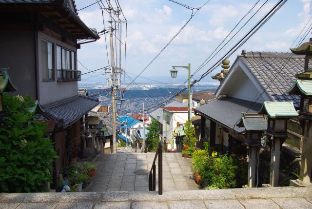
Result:
<svg viewBox="0 0 312 209">
<path fill-rule="evenodd" d="M 0 32 L 0 68 L 8 71 L 18 88 L 12 95 L 29 95 L 36 99 L 35 52 L 33 31 Z"/>
</svg>

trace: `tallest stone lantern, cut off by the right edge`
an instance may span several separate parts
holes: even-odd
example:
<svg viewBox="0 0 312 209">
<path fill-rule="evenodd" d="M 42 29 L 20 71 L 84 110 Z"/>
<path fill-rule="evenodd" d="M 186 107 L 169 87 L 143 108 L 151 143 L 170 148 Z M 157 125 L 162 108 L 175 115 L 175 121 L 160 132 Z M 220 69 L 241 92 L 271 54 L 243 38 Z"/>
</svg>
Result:
<svg viewBox="0 0 312 209">
<path fill-rule="evenodd" d="M 292 53 L 305 55 L 304 72 L 296 74 L 297 80 L 288 90 L 290 95 L 300 96 L 299 122 L 303 131 L 301 142 L 300 179 L 292 181 L 295 186 L 311 186 L 312 180 L 312 39 L 298 48 L 291 48 Z"/>
</svg>

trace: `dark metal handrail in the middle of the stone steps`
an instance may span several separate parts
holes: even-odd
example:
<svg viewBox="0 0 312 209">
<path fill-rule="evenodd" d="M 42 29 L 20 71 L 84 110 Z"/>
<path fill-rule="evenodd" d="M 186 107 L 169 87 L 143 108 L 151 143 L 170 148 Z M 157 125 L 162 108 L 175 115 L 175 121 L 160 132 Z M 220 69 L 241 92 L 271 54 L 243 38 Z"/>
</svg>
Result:
<svg viewBox="0 0 312 209">
<path fill-rule="evenodd" d="M 156 191 L 156 159 L 158 156 L 158 194 L 162 194 L 162 142 L 158 143 L 153 166 L 150 170 L 148 188 L 150 191 Z M 152 173 L 153 172 L 153 173 Z"/>
</svg>

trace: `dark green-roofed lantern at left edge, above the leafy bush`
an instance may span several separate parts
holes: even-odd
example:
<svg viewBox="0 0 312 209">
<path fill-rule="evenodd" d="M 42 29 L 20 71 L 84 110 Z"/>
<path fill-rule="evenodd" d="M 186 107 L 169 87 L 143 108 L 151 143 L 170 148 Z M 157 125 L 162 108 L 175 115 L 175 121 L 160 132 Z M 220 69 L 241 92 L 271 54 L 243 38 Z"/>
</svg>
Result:
<svg viewBox="0 0 312 209">
<path fill-rule="evenodd" d="M 12 84 L 8 75 L 9 68 L 0 69 L 0 120 L 3 118 L 3 105 L 2 105 L 2 92 L 4 91 L 16 91 L 17 88 Z"/>
</svg>

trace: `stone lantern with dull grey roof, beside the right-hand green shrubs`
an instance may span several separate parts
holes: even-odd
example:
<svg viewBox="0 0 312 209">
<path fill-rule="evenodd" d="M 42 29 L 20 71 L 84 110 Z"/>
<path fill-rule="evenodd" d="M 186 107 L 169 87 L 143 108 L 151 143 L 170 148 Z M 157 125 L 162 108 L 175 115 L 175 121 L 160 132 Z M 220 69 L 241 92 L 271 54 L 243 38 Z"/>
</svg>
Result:
<svg viewBox="0 0 312 209">
<path fill-rule="evenodd" d="M 248 149 L 248 186 L 255 186 L 255 171 L 257 152 L 261 144 L 262 133 L 268 127 L 268 118 L 265 115 L 243 113 L 243 117 L 238 122 L 238 127 L 245 127 L 244 144 Z"/>
</svg>

